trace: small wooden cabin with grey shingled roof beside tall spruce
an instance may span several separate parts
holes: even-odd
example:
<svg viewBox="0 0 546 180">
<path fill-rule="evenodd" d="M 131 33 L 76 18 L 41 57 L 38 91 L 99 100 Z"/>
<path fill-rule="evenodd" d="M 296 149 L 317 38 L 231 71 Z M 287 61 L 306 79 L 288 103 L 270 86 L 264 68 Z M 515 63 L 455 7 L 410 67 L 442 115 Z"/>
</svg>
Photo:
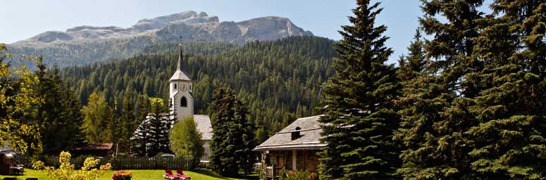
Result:
<svg viewBox="0 0 546 180">
<path fill-rule="evenodd" d="M 321 143 L 322 115 L 302 117 L 285 127 L 254 150 L 261 152 L 266 179 L 278 179 L 280 169 L 316 172 L 318 155 L 327 145 Z"/>
</svg>

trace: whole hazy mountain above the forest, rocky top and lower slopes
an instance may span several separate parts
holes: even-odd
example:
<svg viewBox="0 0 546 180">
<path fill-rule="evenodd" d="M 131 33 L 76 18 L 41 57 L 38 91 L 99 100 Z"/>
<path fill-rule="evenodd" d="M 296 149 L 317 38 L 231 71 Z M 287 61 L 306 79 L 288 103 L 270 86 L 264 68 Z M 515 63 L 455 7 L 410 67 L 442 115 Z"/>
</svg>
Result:
<svg viewBox="0 0 546 180">
<path fill-rule="evenodd" d="M 128 58 L 144 47 L 159 42 L 222 41 L 244 44 L 248 41 L 312 36 L 287 18 L 263 17 L 242 22 L 219 22 L 217 16 L 185 11 L 139 20 L 128 28 L 108 26 L 73 27 L 66 32 L 51 31 L 8 44 L 15 57 L 41 54 L 46 64 L 60 67 L 86 65 L 109 59 Z"/>
</svg>

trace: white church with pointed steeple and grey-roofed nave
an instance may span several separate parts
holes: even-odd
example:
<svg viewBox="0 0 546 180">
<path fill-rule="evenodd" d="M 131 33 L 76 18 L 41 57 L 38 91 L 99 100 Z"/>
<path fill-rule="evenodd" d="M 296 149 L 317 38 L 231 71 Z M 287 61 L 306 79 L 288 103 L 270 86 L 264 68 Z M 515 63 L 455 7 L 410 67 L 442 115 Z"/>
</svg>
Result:
<svg viewBox="0 0 546 180">
<path fill-rule="evenodd" d="M 209 162 L 211 155 L 210 142 L 212 140 L 212 125 L 209 115 L 194 115 L 194 98 L 192 79 L 180 68 L 180 63 L 184 60 L 182 53 L 182 44 L 180 44 L 180 55 L 175 73 L 169 79 L 169 98 L 170 98 L 170 114 L 176 114 L 176 120 L 182 120 L 185 117 L 193 116 L 197 126 L 197 131 L 201 133 L 203 148 L 205 150 L 201 162 Z"/>
</svg>

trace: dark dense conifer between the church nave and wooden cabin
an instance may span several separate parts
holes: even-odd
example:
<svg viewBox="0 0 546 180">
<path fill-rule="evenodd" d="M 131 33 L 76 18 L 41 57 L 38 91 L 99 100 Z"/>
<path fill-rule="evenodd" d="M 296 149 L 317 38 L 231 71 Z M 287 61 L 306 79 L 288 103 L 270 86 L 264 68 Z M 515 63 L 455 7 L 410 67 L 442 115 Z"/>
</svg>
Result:
<svg viewBox="0 0 546 180">
<path fill-rule="evenodd" d="M 223 176 L 237 176 L 240 169 L 249 174 L 256 161 L 256 153 L 252 152 L 256 143 L 247 106 L 225 87 L 214 91 L 213 100 L 211 167 Z"/>
</svg>

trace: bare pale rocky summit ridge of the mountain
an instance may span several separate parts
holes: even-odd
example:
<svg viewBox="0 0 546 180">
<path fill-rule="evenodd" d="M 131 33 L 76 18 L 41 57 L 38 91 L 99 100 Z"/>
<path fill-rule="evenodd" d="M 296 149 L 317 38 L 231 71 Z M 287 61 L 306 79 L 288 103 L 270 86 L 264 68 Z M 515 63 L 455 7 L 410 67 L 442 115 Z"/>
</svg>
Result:
<svg viewBox="0 0 546 180">
<path fill-rule="evenodd" d="M 88 43 L 100 39 L 131 39 L 151 37 L 160 41 L 227 41 L 242 44 L 254 40 L 273 40 L 290 36 L 312 36 L 309 31 L 294 25 L 288 18 L 263 17 L 242 22 L 219 22 L 217 16 L 185 11 L 152 19 L 139 20 L 128 28 L 73 27 L 66 32 L 44 32 L 30 39 L 15 42 L 14 46 L 46 46 L 63 43 Z"/>
</svg>

